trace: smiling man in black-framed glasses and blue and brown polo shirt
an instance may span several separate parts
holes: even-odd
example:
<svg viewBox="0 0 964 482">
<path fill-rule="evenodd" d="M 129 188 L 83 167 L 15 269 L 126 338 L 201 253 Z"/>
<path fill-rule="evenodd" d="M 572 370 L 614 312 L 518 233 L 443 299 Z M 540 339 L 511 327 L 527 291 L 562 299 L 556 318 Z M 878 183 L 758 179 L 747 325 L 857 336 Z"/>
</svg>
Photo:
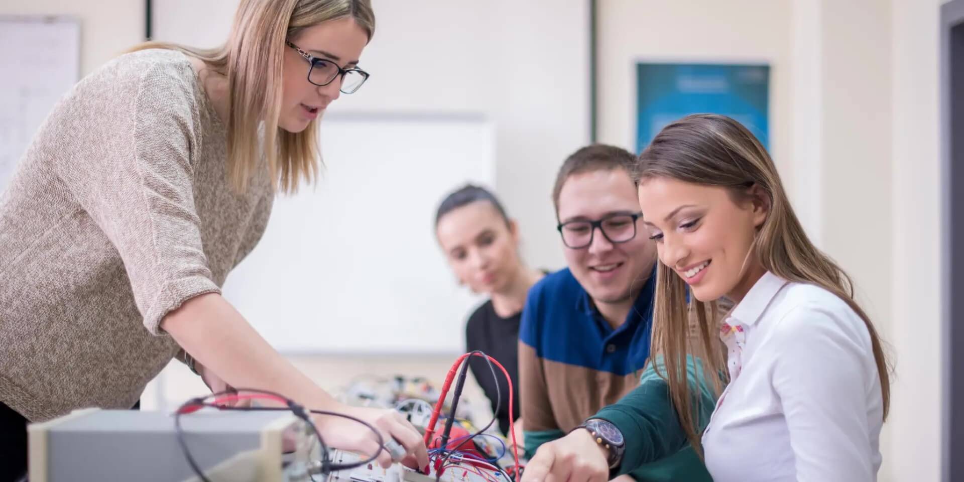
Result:
<svg viewBox="0 0 964 482">
<path fill-rule="evenodd" d="M 568 268 L 536 283 L 522 310 L 519 369 L 525 452 L 576 428 L 640 384 L 653 332 L 656 245 L 639 228 L 639 202 L 629 174 L 635 157 L 604 145 L 582 147 L 556 175 L 553 201 Z M 700 391 L 705 393 L 705 391 Z M 675 416 L 668 397 L 655 414 Z M 710 395 L 701 400 L 711 407 Z M 617 431 L 618 434 L 618 431 Z M 595 436 L 594 436 L 595 437 Z M 602 441 L 602 438 L 600 438 Z M 621 454 L 612 442 L 613 463 Z M 602 443 L 601 443 L 602 444 Z M 658 447 L 653 464 L 623 478 L 710 480 L 693 449 Z M 659 459 L 659 460 L 656 460 Z M 613 472 L 615 473 L 615 472 Z"/>
</svg>

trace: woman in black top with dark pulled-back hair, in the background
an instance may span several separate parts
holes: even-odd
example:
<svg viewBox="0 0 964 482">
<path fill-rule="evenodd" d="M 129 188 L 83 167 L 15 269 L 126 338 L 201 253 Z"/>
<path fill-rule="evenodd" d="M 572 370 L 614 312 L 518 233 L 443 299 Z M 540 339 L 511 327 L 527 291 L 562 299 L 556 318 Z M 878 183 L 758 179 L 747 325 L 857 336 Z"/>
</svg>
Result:
<svg viewBox="0 0 964 482">
<path fill-rule="evenodd" d="M 529 288 L 544 273 L 526 267 L 519 254 L 519 227 L 505 214 L 495 195 L 478 186 L 467 185 L 448 195 L 435 217 L 436 236 L 459 283 L 475 293 L 490 296 L 469 316 L 466 327 L 467 351 L 480 350 L 505 366 L 515 392 L 512 413 L 519 423 L 519 324 Z M 485 391 L 495 412 L 500 397 L 498 426 L 509 435 L 509 388 L 498 375 L 496 382 L 488 363 L 469 359 L 469 368 Z M 519 443 L 522 443 L 520 440 Z"/>
</svg>

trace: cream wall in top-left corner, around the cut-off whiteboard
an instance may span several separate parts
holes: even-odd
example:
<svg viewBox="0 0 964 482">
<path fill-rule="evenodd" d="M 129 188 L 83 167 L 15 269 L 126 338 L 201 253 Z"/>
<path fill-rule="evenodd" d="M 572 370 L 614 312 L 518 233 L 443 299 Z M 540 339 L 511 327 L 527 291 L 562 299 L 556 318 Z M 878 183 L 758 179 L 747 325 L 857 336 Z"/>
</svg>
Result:
<svg viewBox="0 0 964 482">
<path fill-rule="evenodd" d="M 144 40 L 143 1 L 3 0 L 0 14 L 57 14 L 79 19 L 81 76 Z"/>
</svg>

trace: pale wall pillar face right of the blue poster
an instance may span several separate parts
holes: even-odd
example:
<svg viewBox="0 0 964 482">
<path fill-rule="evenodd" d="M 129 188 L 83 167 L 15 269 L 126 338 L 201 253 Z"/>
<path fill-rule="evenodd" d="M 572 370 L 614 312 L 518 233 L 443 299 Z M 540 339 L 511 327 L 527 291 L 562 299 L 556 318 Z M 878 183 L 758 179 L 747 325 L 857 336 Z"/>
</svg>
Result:
<svg viewBox="0 0 964 482">
<path fill-rule="evenodd" d="M 891 297 L 891 21 L 879 0 L 823 2 L 822 235 L 887 335 Z M 806 160 L 801 159 L 801 162 Z M 803 201 L 803 200 L 801 200 Z"/>
</svg>

